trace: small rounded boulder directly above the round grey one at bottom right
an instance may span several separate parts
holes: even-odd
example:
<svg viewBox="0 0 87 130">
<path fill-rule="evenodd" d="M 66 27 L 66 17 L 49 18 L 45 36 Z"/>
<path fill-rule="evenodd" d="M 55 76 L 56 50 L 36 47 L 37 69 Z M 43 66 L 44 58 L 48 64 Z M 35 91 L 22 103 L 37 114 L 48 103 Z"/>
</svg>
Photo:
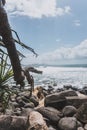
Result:
<svg viewBox="0 0 87 130">
<path fill-rule="evenodd" d="M 64 116 L 72 117 L 77 112 L 74 106 L 65 106 L 62 110 Z"/>
</svg>

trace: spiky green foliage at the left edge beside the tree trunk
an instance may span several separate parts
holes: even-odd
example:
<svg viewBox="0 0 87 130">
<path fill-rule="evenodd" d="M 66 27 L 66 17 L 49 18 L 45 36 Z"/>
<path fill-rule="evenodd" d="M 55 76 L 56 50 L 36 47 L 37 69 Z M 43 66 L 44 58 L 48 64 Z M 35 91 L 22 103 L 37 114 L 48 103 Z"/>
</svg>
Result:
<svg viewBox="0 0 87 130">
<path fill-rule="evenodd" d="M 11 65 L 8 64 L 8 55 L 0 50 L 0 103 L 2 105 L 2 112 L 5 112 L 8 107 L 11 91 L 9 91 L 8 81 L 13 77 Z"/>
</svg>

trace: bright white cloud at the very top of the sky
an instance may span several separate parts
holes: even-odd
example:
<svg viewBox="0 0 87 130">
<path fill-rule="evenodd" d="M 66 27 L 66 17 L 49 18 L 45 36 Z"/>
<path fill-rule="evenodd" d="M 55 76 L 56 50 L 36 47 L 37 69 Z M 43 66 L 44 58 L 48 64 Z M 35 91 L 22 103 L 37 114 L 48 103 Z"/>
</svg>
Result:
<svg viewBox="0 0 87 130">
<path fill-rule="evenodd" d="M 71 12 L 69 6 L 57 7 L 56 0 L 7 0 L 6 9 L 10 15 L 25 15 L 31 18 L 62 16 Z"/>
</svg>

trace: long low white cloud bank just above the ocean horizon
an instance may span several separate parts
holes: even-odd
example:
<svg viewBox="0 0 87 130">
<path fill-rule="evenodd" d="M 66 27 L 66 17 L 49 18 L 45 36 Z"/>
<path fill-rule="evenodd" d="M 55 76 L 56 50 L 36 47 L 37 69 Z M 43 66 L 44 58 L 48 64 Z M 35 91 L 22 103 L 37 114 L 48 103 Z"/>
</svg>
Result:
<svg viewBox="0 0 87 130">
<path fill-rule="evenodd" d="M 87 39 L 81 42 L 79 45 L 72 48 L 61 47 L 53 52 L 48 52 L 38 56 L 38 58 L 32 55 L 27 55 L 24 63 L 40 63 L 40 64 L 55 64 L 62 61 L 70 60 L 82 60 L 87 58 Z M 29 62 L 28 62 L 29 59 Z"/>
</svg>

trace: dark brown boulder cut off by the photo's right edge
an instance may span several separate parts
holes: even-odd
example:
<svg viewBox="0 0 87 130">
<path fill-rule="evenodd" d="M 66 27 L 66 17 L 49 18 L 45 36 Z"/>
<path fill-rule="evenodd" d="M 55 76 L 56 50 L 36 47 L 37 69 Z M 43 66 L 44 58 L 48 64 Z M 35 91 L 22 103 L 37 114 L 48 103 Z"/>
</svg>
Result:
<svg viewBox="0 0 87 130">
<path fill-rule="evenodd" d="M 76 118 L 82 123 L 87 123 L 87 102 L 83 103 L 76 113 Z"/>
</svg>

